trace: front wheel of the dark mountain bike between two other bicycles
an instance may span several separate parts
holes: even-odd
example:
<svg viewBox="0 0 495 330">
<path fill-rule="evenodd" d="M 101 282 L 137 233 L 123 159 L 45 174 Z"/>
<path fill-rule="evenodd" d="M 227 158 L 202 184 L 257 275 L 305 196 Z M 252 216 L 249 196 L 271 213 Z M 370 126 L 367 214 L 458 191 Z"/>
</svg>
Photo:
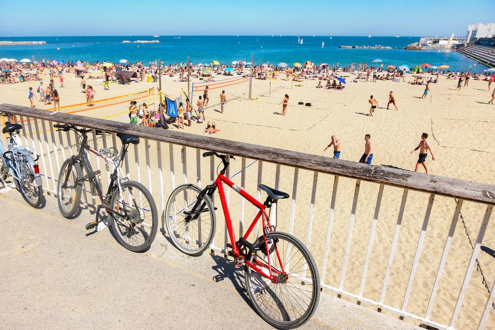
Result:
<svg viewBox="0 0 495 330">
<path fill-rule="evenodd" d="M 74 190 L 75 195 L 72 194 L 67 188 L 62 188 L 62 183 L 65 178 L 64 175 L 67 173 L 67 166 L 72 163 L 72 169 L 70 172 L 70 176 L 72 176 L 73 186 L 71 188 Z M 81 166 L 78 162 L 73 161 L 71 158 L 66 159 L 62 167 L 60 168 L 60 173 L 58 174 L 58 183 L 57 183 L 57 201 L 58 201 L 58 210 L 60 214 L 65 218 L 72 218 L 77 211 L 79 210 L 79 205 L 81 204 L 81 192 L 83 190 L 82 182 L 76 183 L 77 180 L 80 180 L 83 177 L 83 173 L 81 172 Z M 71 178 L 69 178 L 70 180 Z M 72 185 L 71 185 L 72 186 Z M 72 196 L 68 198 L 68 202 L 64 203 L 65 196 Z"/>
</svg>

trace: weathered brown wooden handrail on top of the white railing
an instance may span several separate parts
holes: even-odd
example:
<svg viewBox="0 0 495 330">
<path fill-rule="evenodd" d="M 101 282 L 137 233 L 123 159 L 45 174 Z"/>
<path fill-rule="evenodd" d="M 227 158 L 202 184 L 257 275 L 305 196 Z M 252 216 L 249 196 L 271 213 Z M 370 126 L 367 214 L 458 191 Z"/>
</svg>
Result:
<svg viewBox="0 0 495 330">
<path fill-rule="evenodd" d="M 75 114 L 31 109 L 19 105 L 0 104 L 0 112 L 49 120 L 52 122 L 74 124 L 111 133 L 123 132 L 143 139 L 213 150 L 220 153 L 259 159 L 310 171 L 318 171 L 331 175 L 371 181 L 378 184 L 418 190 L 475 202 L 495 204 L 495 186 L 476 182 L 417 173 L 380 165 L 365 165 L 344 159 L 334 159 L 244 142 L 217 138 L 212 139 L 200 135 L 124 124 Z"/>
</svg>

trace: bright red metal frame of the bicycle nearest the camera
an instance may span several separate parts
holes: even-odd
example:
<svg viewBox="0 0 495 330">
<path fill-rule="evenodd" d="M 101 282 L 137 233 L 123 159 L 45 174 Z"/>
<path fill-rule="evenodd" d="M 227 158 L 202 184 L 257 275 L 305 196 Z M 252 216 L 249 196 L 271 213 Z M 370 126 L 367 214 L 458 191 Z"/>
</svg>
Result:
<svg viewBox="0 0 495 330">
<path fill-rule="evenodd" d="M 273 227 L 270 225 L 270 219 L 268 219 L 268 217 L 266 215 L 266 211 L 265 211 L 266 206 L 264 204 L 260 203 L 253 196 L 251 196 L 250 194 L 248 194 L 246 191 L 244 191 L 243 189 L 241 189 L 239 186 L 237 186 L 232 181 L 230 181 L 226 176 L 224 176 L 223 174 L 220 173 L 220 174 L 218 174 L 218 177 L 215 180 L 215 182 L 213 183 L 213 185 L 218 189 L 218 194 L 220 195 L 220 201 L 222 203 L 223 214 L 225 216 L 225 222 L 227 224 L 227 231 L 229 233 L 230 242 L 232 244 L 232 253 L 235 256 L 239 257 L 239 258 L 244 258 L 244 256 L 241 255 L 240 252 L 239 252 L 240 248 L 242 247 L 242 244 L 241 243 L 236 244 L 236 234 L 234 233 L 234 228 L 232 226 L 232 219 L 230 218 L 229 206 L 227 204 L 227 199 L 225 198 L 225 190 L 223 189 L 223 183 L 227 184 L 227 186 L 229 186 L 230 188 L 234 189 L 242 197 L 244 197 L 245 199 L 247 199 L 252 205 L 254 205 L 256 208 L 259 209 L 258 214 L 256 215 L 256 217 L 254 217 L 254 220 L 252 221 L 251 225 L 247 229 L 247 231 L 244 234 L 243 238 L 245 240 L 247 239 L 247 237 L 249 236 L 249 234 L 252 232 L 254 226 L 258 222 L 259 218 L 261 217 L 262 228 L 263 228 L 263 239 L 265 241 L 265 246 L 266 246 L 266 249 L 267 249 L 267 255 L 270 255 L 270 253 L 268 251 L 268 249 L 269 249 L 269 242 L 268 242 L 268 240 L 266 238 L 265 230 L 268 230 L 268 231 L 272 232 L 273 231 Z M 276 244 L 275 244 L 275 252 L 277 254 L 277 258 L 279 260 L 279 264 L 281 265 L 281 268 L 282 268 L 281 270 L 277 270 L 277 269 L 271 267 L 271 265 L 270 265 L 270 258 L 269 257 L 267 258 L 268 265 L 265 265 L 260 260 L 258 260 L 259 258 L 256 258 L 256 260 L 255 260 L 254 263 L 251 263 L 250 261 L 245 260 L 246 261 L 246 265 L 249 266 L 249 267 L 251 267 L 253 270 L 255 270 L 257 273 L 259 273 L 261 276 L 263 276 L 263 277 L 271 280 L 274 283 L 277 283 L 277 279 L 278 279 L 277 275 L 285 274 L 285 271 L 283 269 L 282 260 L 280 259 L 280 255 L 279 255 L 279 252 L 278 252 L 278 248 L 276 247 Z M 257 266 L 262 266 L 262 267 L 268 266 L 267 268 L 269 270 L 269 274 L 266 274 L 261 269 L 259 269 Z M 275 275 L 274 275 L 274 273 L 275 273 Z"/>
</svg>

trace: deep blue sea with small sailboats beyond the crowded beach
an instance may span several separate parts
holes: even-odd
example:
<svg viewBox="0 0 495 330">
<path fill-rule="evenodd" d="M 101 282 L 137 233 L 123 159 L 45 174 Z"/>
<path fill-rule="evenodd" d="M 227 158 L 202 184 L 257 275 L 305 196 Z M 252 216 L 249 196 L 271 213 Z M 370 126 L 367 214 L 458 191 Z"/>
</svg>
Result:
<svg viewBox="0 0 495 330">
<path fill-rule="evenodd" d="M 0 57 L 52 60 L 112 61 L 125 58 L 130 62 L 143 63 L 162 59 L 165 63 L 186 62 L 187 56 L 193 63 L 210 63 L 218 60 L 229 64 L 236 60 L 277 64 L 310 60 L 315 63 L 329 63 L 347 66 L 351 63 L 370 63 L 383 60 L 384 66 L 402 64 L 415 66 L 429 63 L 434 66 L 449 65 L 451 70 L 481 72 L 482 64 L 458 53 L 441 50 L 405 50 L 405 46 L 417 42 L 420 37 L 343 37 L 343 36 L 300 36 L 302 45 L 297 44 L 298 36 L 87 36 L 87 37 L 12 37 L 0 38 L 9 41 L 46 41 L 46 45 L 0 46 Z M 159 40 L 159 44 L 123 44 L 122 41 Z M 325 47 L 321 47 L 325 42 Z M 397 49 L 345 49 L 346 46 L 390 46 Z"/>
</svg>

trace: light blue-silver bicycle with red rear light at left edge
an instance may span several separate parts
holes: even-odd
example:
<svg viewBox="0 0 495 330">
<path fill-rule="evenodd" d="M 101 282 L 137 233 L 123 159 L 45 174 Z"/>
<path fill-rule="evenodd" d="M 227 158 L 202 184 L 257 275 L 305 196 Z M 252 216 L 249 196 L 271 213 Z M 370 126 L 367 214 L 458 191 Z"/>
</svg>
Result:
<svg viewBox="0 0 495 330">
<path fill-rule="evenodd" d="M 10 118 L 6 113 L 1 115 Z M 21 129 L 21 125 L 10 122 L 6 122 L 2 129 L 3 134 L 10 136 L 10 141 L 6 147 L 0 139 L 0 183 L 7 187 L 6 180 L 9 176 L 12 177 L 15 188 L 24 200 L 33 207 L 39 207 L 43 197 L 40 168 L 36 163 L 39 156 L 28 146 L 20 145 L 16 141 Z"/>
</svg>

